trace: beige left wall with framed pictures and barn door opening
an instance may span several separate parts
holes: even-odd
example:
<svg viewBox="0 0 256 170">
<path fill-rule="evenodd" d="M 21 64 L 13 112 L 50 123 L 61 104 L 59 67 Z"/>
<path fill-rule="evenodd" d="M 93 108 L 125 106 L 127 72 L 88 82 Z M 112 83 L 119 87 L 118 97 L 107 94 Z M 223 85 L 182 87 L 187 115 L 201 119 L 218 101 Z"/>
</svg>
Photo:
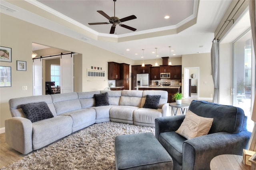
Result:
<svg viewBox="0 0 256 170">
<path fill-rule="evenodd" d="M 108 61 L 128 63 L 134 65 L 134 61 L 121 55 L 106 51 L 86 42 L 58 34 L 51 30 L 41 28 L 34 24 L 7 16 L 0 13 L 0 44 L 12 48 L 12 62 L 1 62 L 1 66 L 12 67 L 12 87 L 0 88 L 0 128 L 4 127 L 4 121 L 11 117 L 8 101 L 11 98 L 33 95 L 32 87 L 32 42 L 65 49 L 82 55 L 82 67 L 79 81 L 82 81 L 81 91 L 101 90 L 108 86 L 108 77 L 87 77 L 87 68 L 91 66 L 102 67 L 108 75 Z M 4 24 L 3 24 L 4 23 Z M 27 71 L 16 71 L 16 60 L 27 61 Z M 27 91 L 22 91 L 22 86 L 27 86 Z"/>
</svg>

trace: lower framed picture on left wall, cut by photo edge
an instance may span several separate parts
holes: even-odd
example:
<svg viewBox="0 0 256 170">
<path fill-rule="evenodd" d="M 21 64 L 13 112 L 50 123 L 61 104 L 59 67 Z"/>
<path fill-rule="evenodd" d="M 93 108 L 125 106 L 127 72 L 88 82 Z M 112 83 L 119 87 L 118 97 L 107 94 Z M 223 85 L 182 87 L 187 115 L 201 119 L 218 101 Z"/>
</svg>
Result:
<svg viewBox="0 0 256 170">
<path fill-rule="evenodd" d="M 12 87 L 11 67 L 0 66 L 0 87 Z"/>
</svg>

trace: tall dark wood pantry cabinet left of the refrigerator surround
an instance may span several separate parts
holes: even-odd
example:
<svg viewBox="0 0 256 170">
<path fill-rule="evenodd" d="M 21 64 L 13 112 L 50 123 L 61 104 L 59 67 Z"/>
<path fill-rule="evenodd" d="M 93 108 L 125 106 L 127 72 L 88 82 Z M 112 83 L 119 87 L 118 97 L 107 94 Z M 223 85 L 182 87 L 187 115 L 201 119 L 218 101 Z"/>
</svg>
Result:
<svg viewBox="0 0 256 170">
<path fill-rule="evenodd" d="M 129 64 L 120 63 L 120 79 L 116 80 L 116 87 L 122 87 L 129 90 Z"/>
</svg>

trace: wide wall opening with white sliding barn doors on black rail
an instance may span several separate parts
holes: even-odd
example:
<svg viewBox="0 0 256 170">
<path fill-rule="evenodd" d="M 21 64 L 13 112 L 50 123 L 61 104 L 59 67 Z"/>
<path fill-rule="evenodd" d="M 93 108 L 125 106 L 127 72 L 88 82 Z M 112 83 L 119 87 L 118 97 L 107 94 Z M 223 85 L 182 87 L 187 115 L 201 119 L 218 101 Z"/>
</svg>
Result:
<svg viewBox="0 0 256 170">
<path fill-rule="evenodd" d="M 34 44 L 34 43 L 33 43 Z M 33 46 L 32 44 L 32 46 Z M 33 59 L 33 95 L 46 94 L 46 82 L 51 84 L 50 91 L 57 93 L 70 93 L 74 91 L 74 53 L 66 53 L 65 50 L 44 46 L 44 49 L 34 51 L 38 56 Z M 63 53 L 62 53 L 63 51 Z M 61 53 L 61 55 L 56 55 Z M 46 55 L 44 55 L 46 54 Z M 50 55 L 49 55 L 50 54 Z M 54 55 L 54 57 L 53 57 Z M 58 76 L 52 75 L 52 66 L 59 66 Z M 58 81 L 58 87 L 55 85 Z M 53 83 L 54 82 L 54 83 Z M 56 82 L 57 83 L 57 82 Z"/>
</svg>

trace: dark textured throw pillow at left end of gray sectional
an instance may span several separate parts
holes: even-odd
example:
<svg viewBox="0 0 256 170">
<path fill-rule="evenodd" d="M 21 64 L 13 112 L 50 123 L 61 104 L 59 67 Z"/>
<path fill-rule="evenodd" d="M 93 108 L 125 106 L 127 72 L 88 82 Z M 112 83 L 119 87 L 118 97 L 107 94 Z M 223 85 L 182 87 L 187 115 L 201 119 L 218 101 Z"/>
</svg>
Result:
<svg viewBox="0 0 256 170">
<path fill-rule="evenodd" d="M 46 102 L 20 105 L 21 109 L 32 123 L 54 117 Z"/>
</svg>

